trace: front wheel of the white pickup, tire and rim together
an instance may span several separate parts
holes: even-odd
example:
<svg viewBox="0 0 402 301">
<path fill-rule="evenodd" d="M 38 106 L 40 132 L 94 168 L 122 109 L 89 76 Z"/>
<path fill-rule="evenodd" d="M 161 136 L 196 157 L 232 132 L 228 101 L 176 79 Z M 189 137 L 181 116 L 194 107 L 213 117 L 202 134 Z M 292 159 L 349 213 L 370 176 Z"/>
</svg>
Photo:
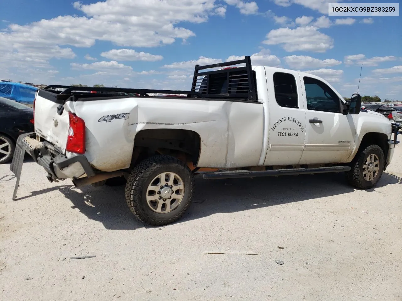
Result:
<svg viewBox="0 0 402 301">
<path fill-rule="evenodd" d="M 349 184 L 359 189 L 372 188 L 381 178 L 384 165 L 384 152 L 378 145 L 367 146 L 356 155 L 352 169 L 346 172 Z"/>
</svg>

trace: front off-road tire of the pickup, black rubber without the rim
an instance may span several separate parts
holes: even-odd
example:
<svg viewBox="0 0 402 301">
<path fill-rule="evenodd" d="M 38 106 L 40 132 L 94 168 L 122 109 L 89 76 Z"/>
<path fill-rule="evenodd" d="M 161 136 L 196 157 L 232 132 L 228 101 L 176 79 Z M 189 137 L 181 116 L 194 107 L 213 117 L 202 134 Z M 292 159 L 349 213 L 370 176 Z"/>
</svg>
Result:
<svg viewBox="0 0 402 301">
<path fill-rule="evenodd" d="M 363 177 L 363 165 L 367 157 L 371 154 L 377 155 L 379 159 L 379 171 L 377 175 L 375 175 L 373 180 L 367 181 Z M 379 179 L 381 179 L 384 164 L 385 164 L 385 156 L 383 150 L 378 145 L 371 144 L 369 146 L 366 146 L 363 150 L 361 150 L 360 153 L 356 154 L 355 159 L 351 163 L 352 169 L 345 173 L 346 179 L 348 183 L 353 187 L 359 189 L 370 189 L 375 184 L 377 184 Z"/>
</svg>

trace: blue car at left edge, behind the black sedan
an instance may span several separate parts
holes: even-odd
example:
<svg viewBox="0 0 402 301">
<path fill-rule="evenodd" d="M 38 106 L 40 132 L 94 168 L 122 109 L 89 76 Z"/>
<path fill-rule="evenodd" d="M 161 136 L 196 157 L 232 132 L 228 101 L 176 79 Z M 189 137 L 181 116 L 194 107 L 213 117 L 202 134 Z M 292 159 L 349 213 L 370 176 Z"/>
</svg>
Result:
<svg viewBox="0 0 402 301">
<path fill-rule="evenodd" d="M 38 88 L 21 83 L 0 82 L 0 97 L 15 100 L 21 104 L 33 104 Z"/>
</svg>

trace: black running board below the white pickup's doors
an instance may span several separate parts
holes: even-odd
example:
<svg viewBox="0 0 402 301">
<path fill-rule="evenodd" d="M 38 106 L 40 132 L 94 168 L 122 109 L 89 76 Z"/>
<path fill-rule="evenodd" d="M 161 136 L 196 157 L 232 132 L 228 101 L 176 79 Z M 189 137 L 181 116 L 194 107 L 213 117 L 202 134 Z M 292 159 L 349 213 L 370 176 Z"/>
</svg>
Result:
<svg viewBox="0 0 402 301">
<path fill-rule="evenodd" d="M 232 179 L 232 178 L 253 178 L 253 177 L 277 177 L 280 175 L 313 175 L 315 173 L 340 173 L 350 171 L 349 166 L 333 166 L 318 168 L 293 168 L 293 169 L 275 169 L 264 171 L 250 170 L 234 170 L 234 171 L 217 171 L 215 173 L 204 173 L 203 179 Z"/>
</svg>

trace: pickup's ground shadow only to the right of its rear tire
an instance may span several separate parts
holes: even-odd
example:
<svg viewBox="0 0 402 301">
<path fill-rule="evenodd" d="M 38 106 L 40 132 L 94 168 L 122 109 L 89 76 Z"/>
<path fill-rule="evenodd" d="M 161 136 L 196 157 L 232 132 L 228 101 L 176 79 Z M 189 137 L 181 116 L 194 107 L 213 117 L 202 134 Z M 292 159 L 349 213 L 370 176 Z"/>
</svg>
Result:
<svg viewBox="0 0 402 301">
<path fill-rule="evenodd" d="M 384 173 L 379 183 L 373 189 L 366 191 L 371 193 L 379 187 L 394 184 L 401 185 L 402 178 Z M 195 220 L 216 213 L 239 212 L 353 191 L 355 189 L 346 183 L 342 173 L 215 181 L 197 178 L 193 204 L 178 222 Z M 368 195 L 368 197 L 376 196 Z"/>
</svg>

